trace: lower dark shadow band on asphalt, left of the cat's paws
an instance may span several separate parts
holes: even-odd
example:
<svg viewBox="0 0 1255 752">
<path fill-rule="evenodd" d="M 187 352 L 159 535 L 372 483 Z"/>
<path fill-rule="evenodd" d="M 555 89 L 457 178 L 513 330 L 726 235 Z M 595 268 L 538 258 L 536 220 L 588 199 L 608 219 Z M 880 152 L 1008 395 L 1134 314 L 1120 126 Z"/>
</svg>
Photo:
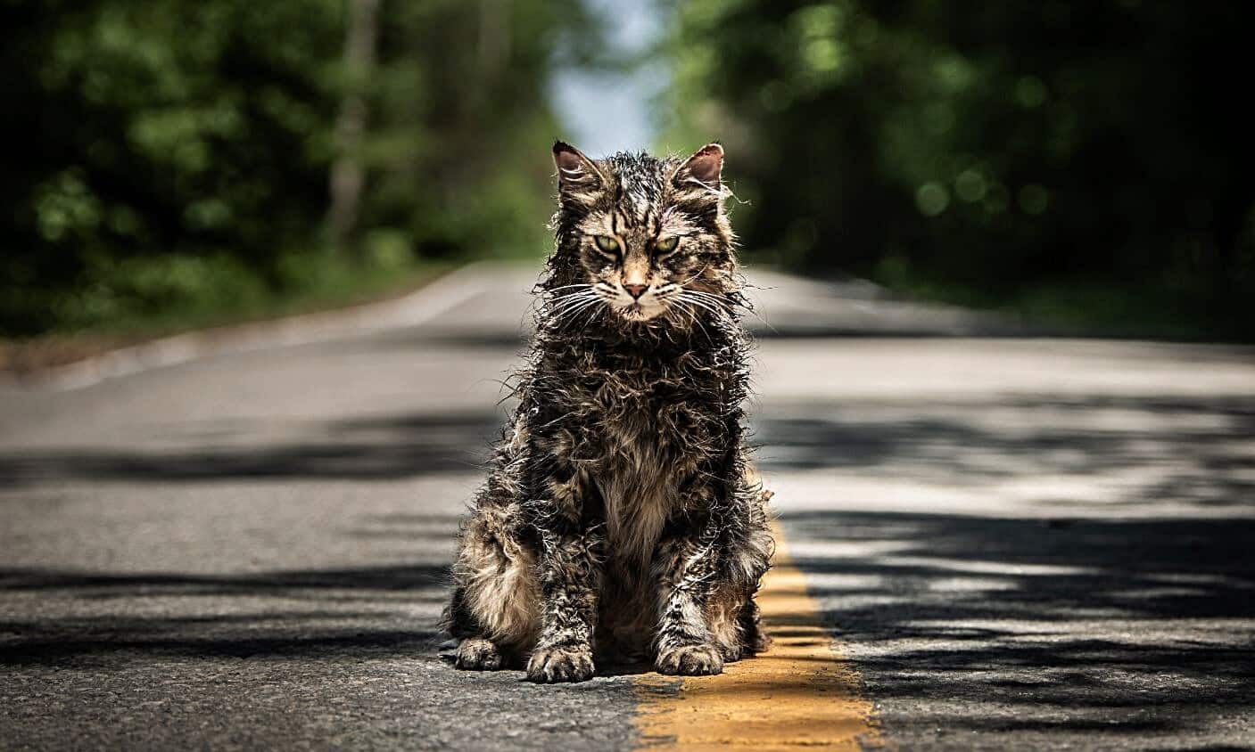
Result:
<svg viewBox="0 0 1255 752">
<path fill-rule="evenodd" d="M 430 654 L 438 640 L 430 614 L 447 582 L 444 565 L 212 575 L 0 570 L 0 598 L 34 595 L 61 612 L 0 620 L 0 666 Z M 428 617 L 410 615 L 415 608 Z"/>
</svg>

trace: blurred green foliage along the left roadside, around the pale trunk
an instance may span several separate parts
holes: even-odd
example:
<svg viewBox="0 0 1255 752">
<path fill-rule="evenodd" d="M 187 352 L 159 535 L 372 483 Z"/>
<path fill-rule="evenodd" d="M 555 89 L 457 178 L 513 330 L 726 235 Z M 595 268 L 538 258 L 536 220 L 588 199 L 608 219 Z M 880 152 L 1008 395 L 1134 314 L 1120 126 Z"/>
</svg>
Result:
<svg viewBox="0 0 1255 752">
<path fill-rule="evenodd" d="M 415 256 L 536 248 L 553 50 L 577 0 L 385 0 L 370 70 L 353 0 L 0 0 L 8 144 L 0 333 L 225 308 Z M 329 242 L 336 119 L 365 182 Z"/>
</svg>

